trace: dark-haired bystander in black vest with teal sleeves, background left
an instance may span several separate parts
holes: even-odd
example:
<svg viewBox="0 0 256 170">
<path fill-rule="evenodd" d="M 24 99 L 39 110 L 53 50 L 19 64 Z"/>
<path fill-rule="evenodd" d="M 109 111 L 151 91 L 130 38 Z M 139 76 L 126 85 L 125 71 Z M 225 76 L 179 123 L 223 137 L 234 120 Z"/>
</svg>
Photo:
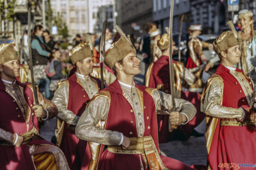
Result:
<svg viewBox="0 0 256 170">
<path fill-rule="evenodd" d="M 42 39 L 42 33 L 44 32 L 43 30 L 44 28 L 41 25 L 36 25 L 34 27 L 34 34 L 32 35 L 31 47 L 34 75 L 37 79 L 37 83 L 39 86 L 42 83 L 42 81 L 45 81 L 45 98 L 48 98 L 50 97 L 50 79 L 47 78 L 45 71 L 51 53 L 46 51 L 46 44 Z"/>
</svg>

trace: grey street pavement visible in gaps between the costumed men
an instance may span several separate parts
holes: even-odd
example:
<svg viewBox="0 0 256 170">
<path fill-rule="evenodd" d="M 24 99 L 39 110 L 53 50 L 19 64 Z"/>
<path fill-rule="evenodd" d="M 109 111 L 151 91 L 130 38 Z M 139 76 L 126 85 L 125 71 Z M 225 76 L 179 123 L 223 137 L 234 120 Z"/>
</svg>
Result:
<svg viewBox="0 0 256 170">
<path fill-rule="evenodd" d="M 141 55 L 138 55 L 141 59 Z M 142 73 L 136 75 L 135 82 L 137 84 L 143 84 L 145 75 L 145 65 L 141 62 Z M 205 133 L 205 119 L 198 125 L 196 130 L 199 133 Z M 40 128 L 41 135 L 46 140 L 51 141 L 54 136 L 54 130 L 56 127 L 56 118 L 45 121 L 44 125 Z M 168 143 L 161 143 L 160 150 L 162 155 L 167 155 L 170 158 L 177 159 L 187 165 L 206 165 L 207 150 L 205 137 L 191 136 L 188 141 L 170 141 Z"/>
</svg>

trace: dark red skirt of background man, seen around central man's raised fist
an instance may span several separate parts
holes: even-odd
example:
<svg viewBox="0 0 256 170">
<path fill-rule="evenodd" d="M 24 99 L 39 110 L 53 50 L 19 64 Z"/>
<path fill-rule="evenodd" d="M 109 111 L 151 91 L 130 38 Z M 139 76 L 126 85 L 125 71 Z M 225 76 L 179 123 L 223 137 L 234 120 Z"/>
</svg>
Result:
<svg viewBox="0 0 256 170">
<path fill-rule="evenodd" d="M 169 116 L 168 115 L 157 115 L 157 124 L 159 126 L 159 143 L 168 142 L 170 140 L 180 139 L 188 140 L 192 130 L 200 124 L 205 114 L 200 112 L 200 94 L 190 91 L 181 91 L 181 98 L 191 102 L 197 109 L 197 114 L 194 118 L 185 125 L 179 125 L 178 129 L 169 132 Z"/>
</svg>

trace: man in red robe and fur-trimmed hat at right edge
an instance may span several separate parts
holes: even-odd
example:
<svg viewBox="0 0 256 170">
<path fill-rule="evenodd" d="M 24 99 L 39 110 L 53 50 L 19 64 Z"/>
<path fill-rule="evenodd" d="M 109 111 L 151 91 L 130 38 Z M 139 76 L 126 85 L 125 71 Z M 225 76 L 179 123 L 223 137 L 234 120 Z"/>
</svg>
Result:
<svg viewBox="0 0 256 170">
<path fill-rule="evenodd" d="M 213 44 L 221 64 L 202 94 L 208 169 L 234 170 L 238 163 L 256 160 L 253 83 L 234 67 L 241 56 L 235 30 L 222 33 Z"/>
</svg>

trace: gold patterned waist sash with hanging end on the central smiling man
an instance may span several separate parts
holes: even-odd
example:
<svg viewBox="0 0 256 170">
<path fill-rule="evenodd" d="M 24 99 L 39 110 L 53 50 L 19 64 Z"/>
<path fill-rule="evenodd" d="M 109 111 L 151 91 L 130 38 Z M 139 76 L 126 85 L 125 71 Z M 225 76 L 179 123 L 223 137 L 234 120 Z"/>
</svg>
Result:
<svg viewBox="0 0 256 170">
<path fill-rule="evenodd" d="M 125 150 L 121 146 L 108 146 L 107 150 L 115 154 L 142 154 L 146 169 L 168 169 L 164 167 L 151 136 L 130 137 L 130 146 Z"/>
</svg>

